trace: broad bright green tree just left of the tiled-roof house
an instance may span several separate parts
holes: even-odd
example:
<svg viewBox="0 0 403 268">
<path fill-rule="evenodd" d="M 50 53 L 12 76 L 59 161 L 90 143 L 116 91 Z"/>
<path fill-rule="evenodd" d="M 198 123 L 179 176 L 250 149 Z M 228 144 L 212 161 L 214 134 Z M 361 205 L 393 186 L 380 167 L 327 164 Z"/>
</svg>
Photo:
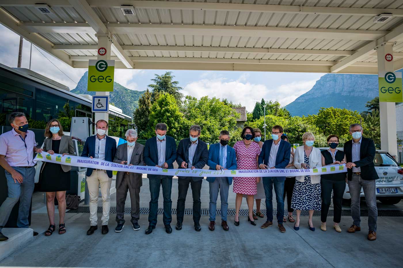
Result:
<svg viewBox="0 0 403 268">
<path fill-rule="evenodd" d="M 210 143 L 218 141 L 221 130 L 234 130 L 239 117 L 228 103 L 216 97 L 210 99 L 206 96 L 198 100 L 186 96 L 182 110 L 185 114 L 184 136 L 188 135 L 191 125 L 197 124 L 202 127 L 200 138 Z"/>
</svg>

